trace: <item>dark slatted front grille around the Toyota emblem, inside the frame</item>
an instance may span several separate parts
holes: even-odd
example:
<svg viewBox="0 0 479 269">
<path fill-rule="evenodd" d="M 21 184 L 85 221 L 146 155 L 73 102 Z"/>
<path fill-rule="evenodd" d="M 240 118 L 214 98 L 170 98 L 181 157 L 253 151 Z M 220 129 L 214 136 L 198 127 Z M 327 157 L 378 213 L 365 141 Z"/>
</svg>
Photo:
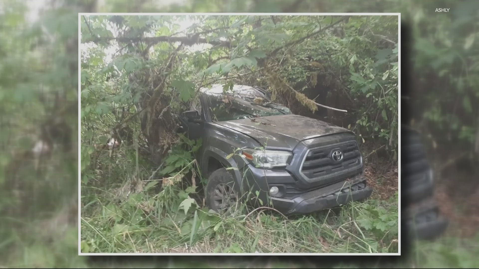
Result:
<svg viewBox="0 0 479 269">
<path fill-rule="evenodd" d="M 343 158 L 335 161 L 332 152 L 341 150 Z M 341 172 L 360 164 L 361 153 L 355 141 L 311 148 L 306 155 L 301 173 L 308 179 L 316 179 Z"/>
</svg>

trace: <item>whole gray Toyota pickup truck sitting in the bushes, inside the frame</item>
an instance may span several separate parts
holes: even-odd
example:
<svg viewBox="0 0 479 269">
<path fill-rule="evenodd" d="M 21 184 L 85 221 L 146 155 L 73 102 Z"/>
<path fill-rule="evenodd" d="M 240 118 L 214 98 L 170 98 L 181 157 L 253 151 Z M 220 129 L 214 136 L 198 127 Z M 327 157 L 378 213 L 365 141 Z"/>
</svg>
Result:
<svg viewBox="0 0 479 269">
<path fill-rule="evenodd" d="M 180 131 L 202 139 L 196 159 L 208 179 L 206 204 L 226 212 L 237 202 L 311 213 L 368 198 L 356 136 L 273 103 L 261 89 L 200 90 Z"/>
</svg>

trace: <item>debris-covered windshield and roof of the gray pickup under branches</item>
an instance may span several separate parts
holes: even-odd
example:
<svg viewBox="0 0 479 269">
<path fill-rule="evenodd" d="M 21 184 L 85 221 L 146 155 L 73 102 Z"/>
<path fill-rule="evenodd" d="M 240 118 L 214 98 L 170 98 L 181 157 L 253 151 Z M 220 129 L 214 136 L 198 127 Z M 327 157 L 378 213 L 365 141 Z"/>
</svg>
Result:
<svg viewBox="0 0 479 269">
<path fill-rule="evenodd" d="M 222 89 L 212 89 L 207 94 L 213 121 L 292 114 L 287 107 L 272 103 L 265 94 L 251 87 L 236 88 L 226 94 Z"/>
</svg>

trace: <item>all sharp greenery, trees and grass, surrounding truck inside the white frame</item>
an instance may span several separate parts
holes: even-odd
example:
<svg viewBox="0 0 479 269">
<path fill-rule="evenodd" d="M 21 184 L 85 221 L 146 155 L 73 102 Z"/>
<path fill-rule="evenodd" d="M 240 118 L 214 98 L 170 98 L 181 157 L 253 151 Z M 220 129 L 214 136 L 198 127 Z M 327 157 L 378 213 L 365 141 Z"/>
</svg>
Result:
<svg viewBox="0 0 479 269">
<path fill-rule="evenodd" d="M 289 219 L 242 205 L 231 216 L 208 211 L 195 193 L 207 180 L 193 154 L 201 141 L 174 133 L 171 117 L 201 86 L 260 86 L 313 116 L 316 102 L 351 107 L 361 143 L 376 136 L 396 158 L 397 17 L 80 20 L 82 251 L 398 252 L 397 196 Z M 318 93 L 325 99 L 313 101 Z M 347 98 L 362 104 L 328 102 Z M 102 146 L 104 134 L 119 148 Z"/>
</svg>

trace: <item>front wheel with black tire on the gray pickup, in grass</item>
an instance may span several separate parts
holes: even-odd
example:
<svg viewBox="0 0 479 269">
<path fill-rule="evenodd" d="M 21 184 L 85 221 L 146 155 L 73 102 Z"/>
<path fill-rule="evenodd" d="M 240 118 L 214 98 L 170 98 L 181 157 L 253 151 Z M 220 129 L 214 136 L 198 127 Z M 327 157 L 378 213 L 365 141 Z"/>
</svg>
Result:
<svg viewBox="0 0 479 269">
<path fill-rule="evenodd" d="M 239 202 L 239 186 L 225 168 L 219 168 L 208 177 L 206 205 L 218 213 L 232 212 Z"/>
</svg>

